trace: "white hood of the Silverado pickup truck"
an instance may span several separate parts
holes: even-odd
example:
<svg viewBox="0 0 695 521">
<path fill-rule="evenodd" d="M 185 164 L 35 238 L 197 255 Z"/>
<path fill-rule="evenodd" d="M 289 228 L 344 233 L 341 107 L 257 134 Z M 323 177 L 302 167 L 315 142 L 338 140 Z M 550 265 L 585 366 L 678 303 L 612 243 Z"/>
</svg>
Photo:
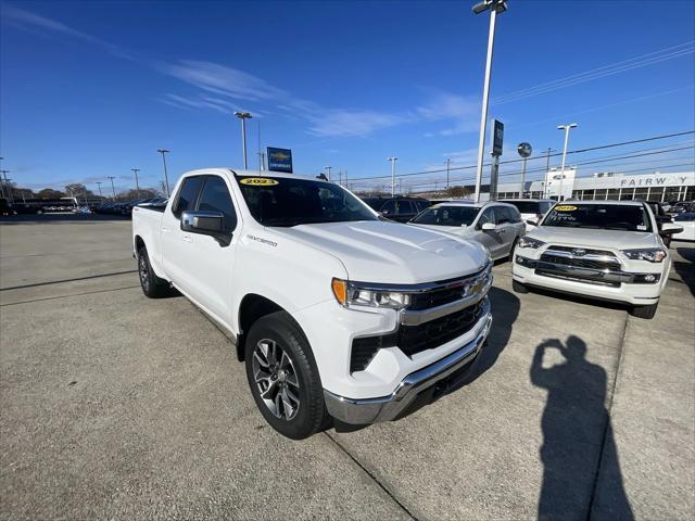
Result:
<svg viewBox="0 0 695 521">
<path fill-rule="evenodd" d="M 446 280 L 480 270 L 489 258 L 477 242 L 399 223 L 327 223 L 271 230 L 278 240 L 285 237 L 337 257 L 351 280 L 363 282 Z"/>
</svg>

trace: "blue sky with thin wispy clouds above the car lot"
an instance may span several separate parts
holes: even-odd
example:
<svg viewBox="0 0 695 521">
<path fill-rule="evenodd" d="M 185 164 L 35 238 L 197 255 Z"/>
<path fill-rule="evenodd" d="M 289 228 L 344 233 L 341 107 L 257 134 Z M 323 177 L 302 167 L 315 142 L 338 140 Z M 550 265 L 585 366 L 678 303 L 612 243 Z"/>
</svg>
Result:
<svg viewBox="0 0 695 521">
<path fill-rule="evenodd" d="M 489 25 L 472 3 L 2 2 L 2 167 L 21 186 L 91 189 L 134 185 L 134 167 L 155 186 L 159 148 L 172 177 L 238 167 L 233 110 L 255 116 L 252 165 L 257 122 L 299 173 L 356 181 L 388 175 L 390 155 L 400 173 L 470 165 Z M 570 120 L 570 149 L 695 128 L 694 21 L 692 1 L 510 0 L 490 110 L 503 160 L 520 141 L 560 149 Z"/>
</svg>

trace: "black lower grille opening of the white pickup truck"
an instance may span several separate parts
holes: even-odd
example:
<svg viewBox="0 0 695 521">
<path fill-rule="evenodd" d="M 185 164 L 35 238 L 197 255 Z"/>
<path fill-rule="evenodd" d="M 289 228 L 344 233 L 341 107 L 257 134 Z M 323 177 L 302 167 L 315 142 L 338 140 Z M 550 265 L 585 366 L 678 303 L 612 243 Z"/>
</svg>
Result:
<svg viewBox="0 0 695 521">
<path fill-rule="evenodd" d="M 460 297 L 460 292 L 458 297 Z M 397 345 L 408 357 L 422 351 L 439 347 L 470 331 L 480 319 L 482 306 L 483 301 L 480 301 L 460 312 L 419 326 L 401 326 L 394 333 L 354 339 L 350 355 L 350 371 L 363 371 L 381 347 Z"/>
</svg>

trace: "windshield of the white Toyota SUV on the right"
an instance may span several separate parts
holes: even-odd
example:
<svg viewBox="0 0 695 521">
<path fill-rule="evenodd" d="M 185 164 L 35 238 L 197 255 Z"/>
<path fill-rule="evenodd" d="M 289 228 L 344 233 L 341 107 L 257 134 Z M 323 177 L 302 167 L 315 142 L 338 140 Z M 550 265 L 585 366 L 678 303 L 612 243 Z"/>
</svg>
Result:
<svg viewBox="0 0 695 521">
<path fill-rule="evenodd" d="M 652 231 L 644 206 L 634 204 L 556 204 L 543 220 L 543 226 Z"/>
</svg>

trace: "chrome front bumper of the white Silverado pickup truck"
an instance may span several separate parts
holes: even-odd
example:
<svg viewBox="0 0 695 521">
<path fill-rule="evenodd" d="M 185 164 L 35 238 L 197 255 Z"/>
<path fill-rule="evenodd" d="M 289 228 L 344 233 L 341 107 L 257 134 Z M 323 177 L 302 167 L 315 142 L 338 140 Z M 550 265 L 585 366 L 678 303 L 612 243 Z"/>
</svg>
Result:
<svg viewBox="0 0 695 521">
<path fill-rule="evenodd" d="M 422 394 L 434 392 L 454 376 L 460 376 L 480 353 L 492 323 L 488 304 L 476 326 L 478 333 L 472 341 L 450 353 L 440 360 L 405 377 L 388 396 L 377 398 L 349 398 L 324 390 L 328 412 L 338 420 L 351 424 L 367 424 L 396 419 Z"/>
</svg>

